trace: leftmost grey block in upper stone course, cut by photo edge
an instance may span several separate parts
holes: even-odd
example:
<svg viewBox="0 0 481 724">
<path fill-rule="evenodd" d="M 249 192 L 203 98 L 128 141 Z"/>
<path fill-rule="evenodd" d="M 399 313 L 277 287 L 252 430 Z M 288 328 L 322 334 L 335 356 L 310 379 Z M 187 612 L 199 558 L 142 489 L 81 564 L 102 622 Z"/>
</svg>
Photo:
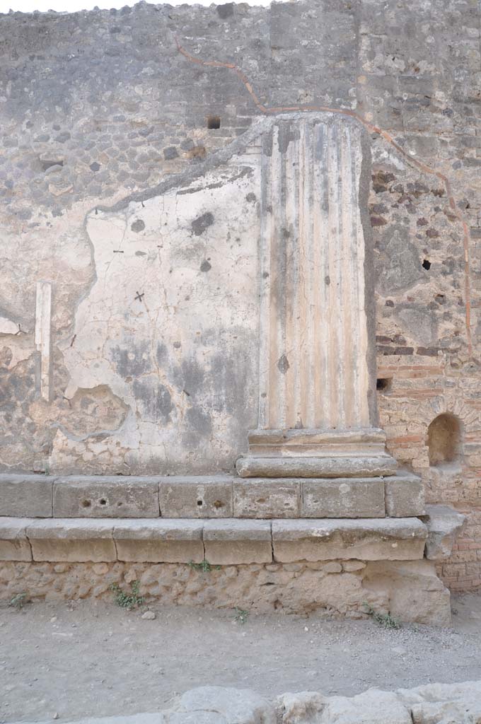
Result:
<svg viewBox="0 0 481 724">
<path fill-rule="evenodd" d="M 51 518 L 53 482 L 44 475 L 0 475 L 0 515 Z"/>
</svg>

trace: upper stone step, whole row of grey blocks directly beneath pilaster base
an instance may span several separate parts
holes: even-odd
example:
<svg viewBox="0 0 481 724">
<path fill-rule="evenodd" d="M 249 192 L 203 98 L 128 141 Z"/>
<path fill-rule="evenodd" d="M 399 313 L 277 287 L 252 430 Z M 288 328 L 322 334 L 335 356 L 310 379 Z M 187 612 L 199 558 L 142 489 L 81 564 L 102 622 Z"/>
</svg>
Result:
<svg viewBox="0 0 481 724">
<path fill-rule="evenodd" d="M 0 474 L 0 516 L 30 518 L 409 518 L 424 513 L 422 481 L 237 476 Z"/>
</svg>

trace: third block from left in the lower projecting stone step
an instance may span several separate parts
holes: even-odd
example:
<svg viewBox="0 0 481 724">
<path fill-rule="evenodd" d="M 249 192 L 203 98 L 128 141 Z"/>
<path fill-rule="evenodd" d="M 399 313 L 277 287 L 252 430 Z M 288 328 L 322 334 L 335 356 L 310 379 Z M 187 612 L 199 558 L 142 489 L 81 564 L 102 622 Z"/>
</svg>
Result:
<svg viewBox="0 0 481 724">
<path fill-rule="evenodd" d="M 201 563 L 202 522 L 193 520 L 116 521 L 118 560 L 148 563 Z"/>
</svg>

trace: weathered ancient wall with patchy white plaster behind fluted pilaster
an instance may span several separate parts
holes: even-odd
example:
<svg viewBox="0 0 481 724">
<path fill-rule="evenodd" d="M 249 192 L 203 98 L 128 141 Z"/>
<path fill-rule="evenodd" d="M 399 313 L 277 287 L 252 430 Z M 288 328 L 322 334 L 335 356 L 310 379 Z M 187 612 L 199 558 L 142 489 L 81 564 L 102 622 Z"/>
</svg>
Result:
<svg viewBox="0 0 481 724">
<path fill-rule="evenodd" d="M 444 581 L 480 585 L 480 22 L 475 0 L 0 16 L 0 468 L 233 471 L 259 170 L 209 164 L 262 116 L 332 110 L 371 141 L 380 423 L 469 514 Z"/>
</svg>

